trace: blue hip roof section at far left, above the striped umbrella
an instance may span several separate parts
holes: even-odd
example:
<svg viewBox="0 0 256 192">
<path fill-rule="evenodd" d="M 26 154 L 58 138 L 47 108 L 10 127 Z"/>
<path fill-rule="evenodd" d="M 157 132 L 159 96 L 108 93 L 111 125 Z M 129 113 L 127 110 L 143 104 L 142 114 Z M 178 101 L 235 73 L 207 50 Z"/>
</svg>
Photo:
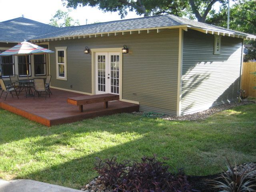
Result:
<svg viewBox="0 0 256 192">
<path fill-rule="evenodd" d="M 0 22 L 0 42 L 23 42 L 56 30 L 58 27 L 18 17 Z"/>
</svg>

